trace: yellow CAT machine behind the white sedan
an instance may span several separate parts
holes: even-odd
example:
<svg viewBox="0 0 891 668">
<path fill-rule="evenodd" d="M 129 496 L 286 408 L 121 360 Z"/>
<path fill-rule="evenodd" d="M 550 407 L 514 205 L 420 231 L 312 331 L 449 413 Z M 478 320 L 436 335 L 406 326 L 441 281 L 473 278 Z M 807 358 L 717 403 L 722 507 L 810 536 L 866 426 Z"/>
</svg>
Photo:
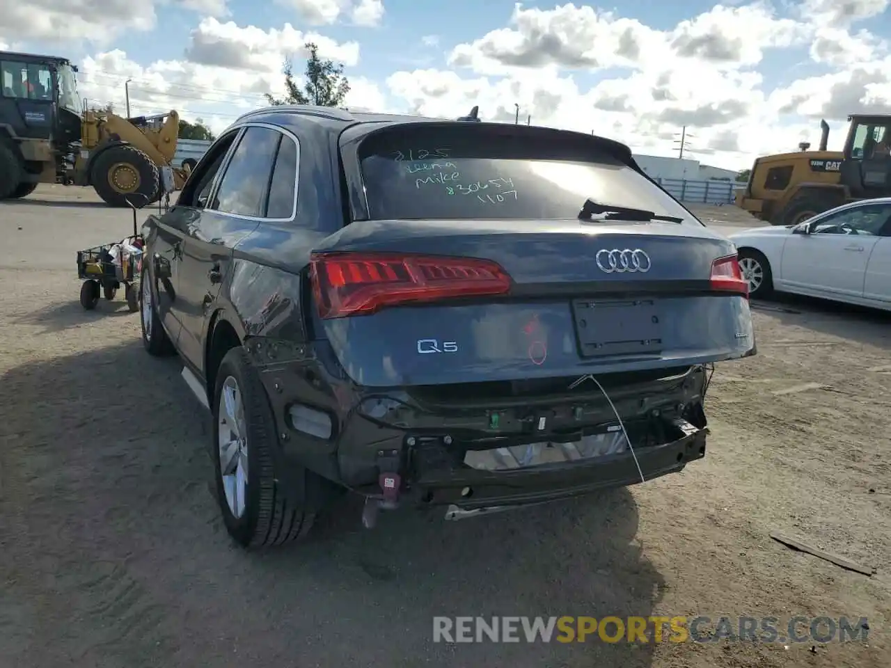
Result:
<svg viewBox="0 0 891 668">
<path fill-rule="evenodd" d="M 736 205 L 759 220 L 793 225 L 849 201 L 891 197 L 891 115 L 852 114 L 843 151 L 827 151 L 830 126 L 821 121 L 817 151 L 755 160 Z"/>
</svg>

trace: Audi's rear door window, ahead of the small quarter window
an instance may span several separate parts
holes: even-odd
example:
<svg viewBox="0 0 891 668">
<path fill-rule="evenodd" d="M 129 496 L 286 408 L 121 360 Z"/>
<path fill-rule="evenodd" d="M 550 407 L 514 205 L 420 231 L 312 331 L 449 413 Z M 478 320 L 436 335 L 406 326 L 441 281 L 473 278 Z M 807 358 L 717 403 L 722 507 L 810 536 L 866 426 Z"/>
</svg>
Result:
<svg viewBox="0 0 891 668">
<path fill-rule="evenodd" d="M 275 152 L 282 134 L 248 127 L 225 169 L 211 209 L 238 216 L 263 216 Z"/>
</svg>

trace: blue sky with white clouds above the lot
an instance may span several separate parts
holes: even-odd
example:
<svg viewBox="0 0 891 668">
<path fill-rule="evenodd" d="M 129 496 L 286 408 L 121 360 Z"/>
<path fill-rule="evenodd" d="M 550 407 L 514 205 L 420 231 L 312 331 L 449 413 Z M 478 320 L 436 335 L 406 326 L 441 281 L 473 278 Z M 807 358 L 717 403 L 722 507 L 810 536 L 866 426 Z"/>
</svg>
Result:
<svg viewBox="0 0 891 668">
<path fill-rule="evenodd" d="M 830 148 L 846 113 L 891 107 L 889 0 L 608 5 L 490 0 L 0 0 L 0 45 L 67 55 L 81 93 L 222 129 L 281 87 L 307 39 L 347 66 L 347 103 L 522 118 L 670 155 L 683 126 L 708 164 Z M 102 6 L 102 12 L 96 7 Z"/>
</svg>

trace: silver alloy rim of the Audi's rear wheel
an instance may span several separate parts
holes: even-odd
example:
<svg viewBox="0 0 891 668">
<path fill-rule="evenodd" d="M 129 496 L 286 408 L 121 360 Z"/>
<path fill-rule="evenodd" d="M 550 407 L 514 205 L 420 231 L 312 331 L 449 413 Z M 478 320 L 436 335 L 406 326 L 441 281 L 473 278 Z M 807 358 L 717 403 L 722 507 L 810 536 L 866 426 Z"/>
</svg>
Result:
<svg viewBox="0 0 891 668">
<path fill-rule="evenodd" d="M 241 389 L 232 376 L 223 381 L 217 416 L 223 492 L 229 512 L 233 517 L 241 518 L 248 494 L 248 429 L 244 421 Z"/>
</svg>

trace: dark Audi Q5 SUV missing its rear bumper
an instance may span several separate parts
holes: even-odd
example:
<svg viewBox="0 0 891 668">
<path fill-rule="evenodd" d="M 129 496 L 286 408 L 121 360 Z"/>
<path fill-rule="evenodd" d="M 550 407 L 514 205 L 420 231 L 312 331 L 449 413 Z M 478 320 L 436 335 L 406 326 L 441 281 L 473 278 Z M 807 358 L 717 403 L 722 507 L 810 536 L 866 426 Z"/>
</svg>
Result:
<svg viewBox="0 0 891 668">
<path fill-rule="evenodd" d="M 307 533 L 343 490 L 446 518 L 682 470 L 748 283 L 609 139 L 251 112 L 149 216 L 143 344 L 213 414 L 225 526 Z"/>
</svg>

